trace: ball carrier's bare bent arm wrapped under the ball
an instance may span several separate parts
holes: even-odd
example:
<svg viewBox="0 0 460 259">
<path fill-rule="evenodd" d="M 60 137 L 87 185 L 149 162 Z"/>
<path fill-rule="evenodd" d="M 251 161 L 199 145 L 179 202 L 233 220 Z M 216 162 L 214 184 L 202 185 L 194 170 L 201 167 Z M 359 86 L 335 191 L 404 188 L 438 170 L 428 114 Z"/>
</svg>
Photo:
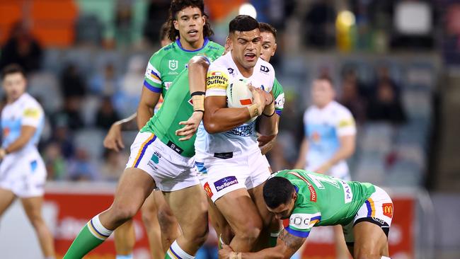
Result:
<svg viewBox="0 0 460 259">
<path fill-rule="evenodd" d="M 265 97 L 256 89 L 253 93 L 253 105 L 243 108 L 227 108 L 226 96 L 208 96 L 205 99 L 203 124 L 207 132 L 214 134 L 226 132 L 263 113 Z"/>
</svg>

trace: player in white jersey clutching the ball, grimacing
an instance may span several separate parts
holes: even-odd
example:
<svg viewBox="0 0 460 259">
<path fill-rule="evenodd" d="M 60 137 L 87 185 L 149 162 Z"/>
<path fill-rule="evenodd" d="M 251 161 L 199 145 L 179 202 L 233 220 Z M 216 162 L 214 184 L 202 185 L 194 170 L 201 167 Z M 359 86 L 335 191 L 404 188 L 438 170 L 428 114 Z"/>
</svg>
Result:
<svg viewBox="0 0 460 259">
<path fill-rule="evenodd" d="M 231 52 L 213 62 L 207 73 L 204 127 L 195 141 L 195 160 L 207 171 L 204 188 L 208 197 L 229 222 L 234 238 L 229 245 L 251 251 L 263 226 L 271 221 L 263 200 L 253 200 L 270 176 L 260 153 L 254 117 L 260 118 L 260 133 L 277 133 L 275 105 L 271 94 L 275 72 L 259 59 L 262 39 L 259 24 L 250 16 L 230 22 Z M 228 108 L 226 87 L 241 80 L 260 93 L 244 108 Z M 263 98 L 259 98 L 263 97 Z M 242 213 L 244 212 L 244 213 Z"/>
</svg>

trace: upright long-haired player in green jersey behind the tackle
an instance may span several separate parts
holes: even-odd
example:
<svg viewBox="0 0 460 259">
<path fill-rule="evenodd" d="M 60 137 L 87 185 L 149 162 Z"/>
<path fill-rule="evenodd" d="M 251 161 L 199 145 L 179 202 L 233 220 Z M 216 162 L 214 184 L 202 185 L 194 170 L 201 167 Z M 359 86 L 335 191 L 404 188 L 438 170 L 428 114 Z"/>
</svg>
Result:
<svg viewBox="0 0 460 259">
<path fill-rule="evenodd" d="M 208 39 L 212 35 L 212 30 L 204 16 L 204 4 L 201 0 L 172 1 L 170 19 L 166 28 L 168 31 L 165 34 L 168 35 L 168 40 L 171 40 L 173 43 L 163 47 L 162 50 L 156 52 L 151 57 L 145 75 L 145 87 L 138 113 L 120 122 L 115 122 L 104 140 L 106 147 L 118 151 L 124 147 L 121 137 L 122 129 L 129 130 L 136 128 L 135 123 L 133 123 L 136 120 L 139 129 L 145 125 L 146 121 L 151 117 L 151 109 L 159 107 L 161 96 L 164 98 L 171 82 L 185 69 L 191 57 L 201 53 L 209 57 L 219 57 L 222 54 L 224 51 L 223 47 Z M 166 42 L 166 40 L 162 42 Z M 156 214 L 158 214 L 158 219 L 156 219 Z M 153 192 L 146 202 L 144 202 L 142 206 L 142 219 L 149 234 L 149 243 L 154 257 L 164 254 L 161 250 L 164 249 L 166 251 L 171 246 L 171 243 L 179 236 L 180 230 L 161 192 Z M 161 229 L 163 249 L 159 246 L 159 229 L 156 227 L 158 226 L 156 222 L 159 222 Z M 126 235 L 126 233 L 130 235 Z M 122 242 L 116 242 L 117 239 Z M 132 251 L 134 247 L 132 221 L 128 221 L 122 228 L 115 231 L 115 244 L 117 243 L 125 243 L 127 244 L 125 247 L 130 248 L 124 249 L 124 254 L 129 254 L 127 252 Z"/>
</svg>

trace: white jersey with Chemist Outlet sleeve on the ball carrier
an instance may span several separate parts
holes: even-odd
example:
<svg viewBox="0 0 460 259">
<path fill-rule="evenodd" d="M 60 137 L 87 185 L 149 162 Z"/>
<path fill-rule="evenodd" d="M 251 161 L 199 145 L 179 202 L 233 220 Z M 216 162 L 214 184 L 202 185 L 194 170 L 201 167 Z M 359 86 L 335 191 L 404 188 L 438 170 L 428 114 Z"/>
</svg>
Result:
<svg viewBox="0 0 460 259">
<path fill-rule="evenodd" d="M 206 96 L 226 96 L 226 88 L 234 81 L 241 80 L 256 88 L 272 91 L 275 69 L 263 59 L 258 59 L 253 74 L 246 78 L 238 71 L 231 52 L 216 59 L 209 66 L 206 79 Z M 255 121 L 244 123 L 227 132 L 209 134 L 200 125 L 195 140 L 197 156 L 213 156 L 215 153 L 252 152 L 258 150 L 255 135 Z"/>
</svg>

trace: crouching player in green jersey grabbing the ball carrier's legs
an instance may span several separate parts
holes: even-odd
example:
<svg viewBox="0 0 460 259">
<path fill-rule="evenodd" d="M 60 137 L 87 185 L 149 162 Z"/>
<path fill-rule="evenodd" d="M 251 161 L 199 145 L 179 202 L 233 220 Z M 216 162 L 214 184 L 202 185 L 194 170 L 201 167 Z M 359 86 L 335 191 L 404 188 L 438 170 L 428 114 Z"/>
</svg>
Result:
<svg viewBox="0 0 460 259">
<path fill-rule="evenodd" d="M 277 219 L 289 219 L 274 248 L 239 253 L 224 246 L 219 258 L 291 258 L 314 226 L 342 225 L 353 258 L 389 258 L 393 202 L 370 183 L 340 180 L 304 170 L 284 170 L 263 187 L 263 199 Z"/>
</svg>

